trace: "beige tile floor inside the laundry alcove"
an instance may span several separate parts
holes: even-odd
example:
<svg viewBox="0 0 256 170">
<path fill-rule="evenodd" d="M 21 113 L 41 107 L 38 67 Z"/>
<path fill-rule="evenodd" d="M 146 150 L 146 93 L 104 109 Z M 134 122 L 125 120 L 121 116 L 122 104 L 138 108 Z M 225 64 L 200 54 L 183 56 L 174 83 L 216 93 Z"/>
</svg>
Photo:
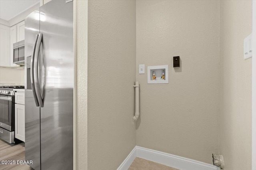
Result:
<svg viewBox="0 0 256 170">
<path fill-rule="evenodd" d="M 136 157 L 128 170 L 178 170 L 150 160 Z"/>
</svg>

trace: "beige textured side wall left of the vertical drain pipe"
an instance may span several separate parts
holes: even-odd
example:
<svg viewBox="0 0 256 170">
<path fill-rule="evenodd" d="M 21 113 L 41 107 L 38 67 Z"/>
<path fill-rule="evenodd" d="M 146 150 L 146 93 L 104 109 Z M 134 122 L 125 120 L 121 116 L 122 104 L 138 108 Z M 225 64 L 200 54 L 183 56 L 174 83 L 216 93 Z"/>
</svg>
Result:
<svg viewBox="0 0 256 170">
<path fill-rule="evenodd" d="M 135 146 L 136 2 L 88 1 L 88 169 L 114 170 Z"/>
</svg>

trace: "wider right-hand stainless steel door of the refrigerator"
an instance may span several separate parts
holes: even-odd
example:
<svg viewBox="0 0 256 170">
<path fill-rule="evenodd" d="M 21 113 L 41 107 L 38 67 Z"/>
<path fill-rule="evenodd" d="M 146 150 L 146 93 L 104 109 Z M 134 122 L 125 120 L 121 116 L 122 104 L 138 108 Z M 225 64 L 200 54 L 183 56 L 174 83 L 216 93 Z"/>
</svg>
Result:
<svg viewBox="0 0 256 170">
<path fill-rule="evenodd" d="M 73 169 L 73 2 L 52 0 L 40 7 L 46 70 L 41 107 L 42 170 Z"/>
</svg>

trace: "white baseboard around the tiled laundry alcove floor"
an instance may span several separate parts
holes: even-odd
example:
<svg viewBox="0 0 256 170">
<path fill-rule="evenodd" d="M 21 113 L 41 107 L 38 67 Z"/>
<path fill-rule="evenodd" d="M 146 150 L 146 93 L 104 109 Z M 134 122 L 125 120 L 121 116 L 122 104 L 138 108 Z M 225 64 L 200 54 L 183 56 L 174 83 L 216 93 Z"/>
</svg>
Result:
<svg viewBox="0 0 256 170">
<path fill-rule="evenodd" d="M 211 164 L 206 164 L 197 160 L 183 158 L 181 156 L 143 148 L 140 146 L 134 147 L 132 152 L 127 156 L 127 158 L 124 160 L 124 162 L 122 162 L 117 170 L 128 170 L 136 157 L 151 160 L 153 162 L 171 166 L 180 170 L 220 170 L 219 167 L 213 166 Z"/>
</svg>

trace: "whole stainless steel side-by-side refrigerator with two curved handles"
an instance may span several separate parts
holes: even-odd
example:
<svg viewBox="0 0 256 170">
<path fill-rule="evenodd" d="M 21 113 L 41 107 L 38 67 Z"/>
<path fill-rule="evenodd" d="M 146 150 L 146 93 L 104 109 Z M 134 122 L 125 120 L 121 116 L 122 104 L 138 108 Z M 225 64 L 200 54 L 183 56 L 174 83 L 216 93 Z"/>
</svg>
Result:
<svg viewBox="0 0 256 170">
<path fill-rule="evenodd" d="M 73 169 L 73 2 L 25 19 L 25 158 L 35 170 Z"/>
</svg>

